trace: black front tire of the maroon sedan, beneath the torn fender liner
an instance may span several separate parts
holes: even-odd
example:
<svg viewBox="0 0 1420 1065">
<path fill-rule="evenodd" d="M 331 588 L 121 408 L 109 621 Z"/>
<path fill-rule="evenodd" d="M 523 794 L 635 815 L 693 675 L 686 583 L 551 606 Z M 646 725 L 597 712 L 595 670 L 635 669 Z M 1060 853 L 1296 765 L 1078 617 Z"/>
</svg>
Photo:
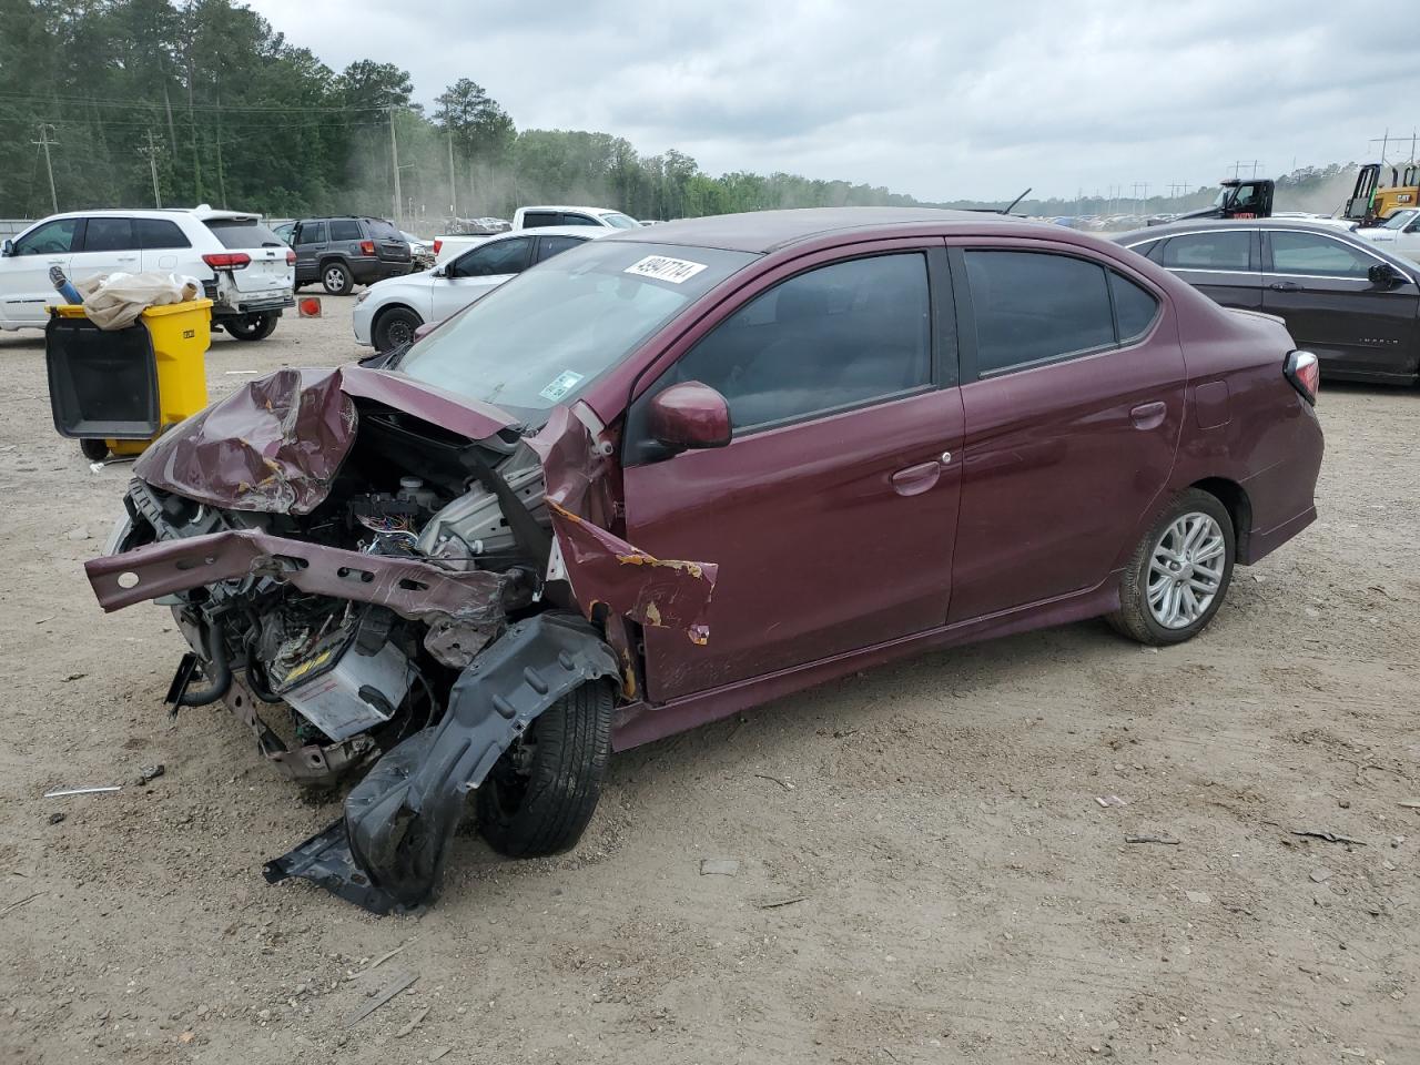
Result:
<svg viewBox="0 0 1420 1065">
<path fill-rule="evenodd" d="M 532 720 L 479 788 L 479 831 L 508 858 L 568 851 L 602 792 L 612 750 L 612 689 L 582 684 Z"/>
</svg>

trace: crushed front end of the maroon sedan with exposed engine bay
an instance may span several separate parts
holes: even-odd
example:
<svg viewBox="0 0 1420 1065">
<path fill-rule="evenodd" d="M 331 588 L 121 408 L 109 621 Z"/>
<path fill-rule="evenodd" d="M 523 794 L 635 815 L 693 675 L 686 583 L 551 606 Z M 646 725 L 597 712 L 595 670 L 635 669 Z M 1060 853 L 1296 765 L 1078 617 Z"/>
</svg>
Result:
<svg viewBox="0 0 1420 1065">
<path fill-rule="evenodd" d="M 613 510 L 595 422 L 558 408 L 538 435 L 477 417 L 460 433 L 430 420 L 440 405 L 371 371 L 253 382 L 149 449 L 124 528 L 87 567 L 105 609 L 172 609 L 192 648 L 173 713 L 224 701 L 298 782 L 365 774 L 345 816 L 266 875 L 379 913 L 436 893 L 480 785 L 506 853 L 574 843 L 585 818 L 571 838 L 518 839 L 530 727 L 552 707 L 582 727 L 575 704 L 609 734 L 636 692 L 635 628 L 703 640 L 714 582 L 713 565 L 662 564 L 595 523 Z"/>
</svg>

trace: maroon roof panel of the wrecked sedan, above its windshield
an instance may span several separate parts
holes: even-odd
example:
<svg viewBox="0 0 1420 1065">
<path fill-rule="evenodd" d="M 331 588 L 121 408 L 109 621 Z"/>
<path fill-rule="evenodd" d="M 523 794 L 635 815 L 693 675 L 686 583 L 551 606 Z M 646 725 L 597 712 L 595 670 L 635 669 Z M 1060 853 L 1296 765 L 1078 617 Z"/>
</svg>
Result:
<svg viewBox="0 0 1420 1065">
<path fill-rule="evenodd" d="M 964 234 L 1008 231 L 1012 236 L 1061 239 L 1065 233 L 1074 233 L 994 212 L 940 207 L 798 207 L 662 222 L 657 226 L 616 230 L 606 240 L 717 247 L 765 254 L 815 237 L 856 233 L 872 236 L 879 230 L 906 226 L 920 229 L 923 224 L 941 227 L 944 234 L 953 230 Z"/>
</svg>

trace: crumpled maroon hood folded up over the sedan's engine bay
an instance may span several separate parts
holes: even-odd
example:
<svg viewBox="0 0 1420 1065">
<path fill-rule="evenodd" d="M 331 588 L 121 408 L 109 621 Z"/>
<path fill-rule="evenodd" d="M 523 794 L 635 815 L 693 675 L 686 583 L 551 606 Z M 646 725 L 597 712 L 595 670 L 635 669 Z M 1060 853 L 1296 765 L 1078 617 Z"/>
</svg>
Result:
<svg viewBox="0 0 1420 1065">
<path fill-rule="evenodd" d="M 355 442 L 355 399 L 372 399 L 470 440 L 515 423 L 497 408 L 361 366 L 280 369 L 163 433 L 133 473 L 226 510 L 310 514 Z"/>
</svg>

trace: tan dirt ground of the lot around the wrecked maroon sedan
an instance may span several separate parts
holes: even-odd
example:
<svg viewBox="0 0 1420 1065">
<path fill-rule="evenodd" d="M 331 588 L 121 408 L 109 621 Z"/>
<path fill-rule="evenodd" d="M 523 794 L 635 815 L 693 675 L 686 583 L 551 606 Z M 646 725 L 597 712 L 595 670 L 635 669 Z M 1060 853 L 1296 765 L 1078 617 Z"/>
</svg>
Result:
<svg viewBox="0 0 1420 1065">
<path fill-rule="evenodd" d="M 217 338 L 213 393 L 355 356 L 349 307 Z M 38 334 L 0 365 L 4 1062 L 1420 1061 L 1417 392 L 1323 389 L 1322 517 L 1198 640 L 1074 625 L 621 754 L 572 853 L 462 836 L 376 919 L 263 882 L 337 798 L 169 720 L 169 615 L 81 571 L 129 467 L 55 435 Z"/>
</svg>

